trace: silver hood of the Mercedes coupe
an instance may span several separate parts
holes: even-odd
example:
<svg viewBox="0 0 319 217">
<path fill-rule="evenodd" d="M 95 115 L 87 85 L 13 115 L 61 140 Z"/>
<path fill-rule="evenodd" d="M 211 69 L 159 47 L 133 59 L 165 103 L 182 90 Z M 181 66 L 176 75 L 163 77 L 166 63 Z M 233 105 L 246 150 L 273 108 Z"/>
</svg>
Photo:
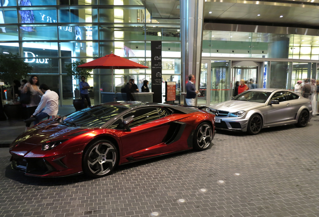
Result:
<svg viewBox="0 0 319 217">
<path fill-rule="evenodd" d="M 240 100 L 228 100 L 228 101 L 211 105 L 210 108 L 213 108 L 214 110 L 221 110 L 221 111 L 227 111 L 227 112 L 233 113 L 233 112 L 238 112 L 241 110 L 249 111 L 262 106 L 264 106 L 264 103 L 240 101 Z"/>
</svg>

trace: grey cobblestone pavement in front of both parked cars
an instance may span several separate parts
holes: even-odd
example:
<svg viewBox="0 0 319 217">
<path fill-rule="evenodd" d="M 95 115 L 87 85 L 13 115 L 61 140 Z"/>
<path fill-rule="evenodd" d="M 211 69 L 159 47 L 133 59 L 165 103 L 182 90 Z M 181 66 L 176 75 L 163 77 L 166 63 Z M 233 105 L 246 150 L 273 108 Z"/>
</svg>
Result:
<svg viewBox="0 0 319 217">
<path fill-rule="evenodd" d="M 120 166 L 97 179 L 24 176 L 2 153 L 0 216 L 319 216 L 318 127 L 316 116 L 305 128 L 218 132 L 210 150 Z"/>
</svg>

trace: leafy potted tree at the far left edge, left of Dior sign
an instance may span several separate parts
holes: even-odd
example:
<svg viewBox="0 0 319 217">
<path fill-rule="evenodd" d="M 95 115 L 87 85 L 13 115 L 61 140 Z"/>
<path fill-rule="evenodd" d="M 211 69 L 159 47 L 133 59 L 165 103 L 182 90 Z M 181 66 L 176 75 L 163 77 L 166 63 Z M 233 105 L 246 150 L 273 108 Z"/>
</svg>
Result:
<svg viewBox="0 0 319 217">
<path fill-rule="evenodd" d="M 9 84 L 14 84 L 14 80 L 21 80 L 28 76 L 32 71 L 32 67 L 29 63 L 24 62 L 21 56 L 13 53 L 3 54 L 0 53 L 0 79 Z M 2 95 L 2 94 L 1 94 Z M 15 95 L 15 93 L 14 93 Z M 7 105 L 9 106 L 9 105 Z M 18 111 L 18 106 L 12 105 L 4 107 L 2 100 L 0 100 L 0 121 L 7 120 L 4 111 L 8 118 L 19 118 L 21 112 Z"/>
</svg>

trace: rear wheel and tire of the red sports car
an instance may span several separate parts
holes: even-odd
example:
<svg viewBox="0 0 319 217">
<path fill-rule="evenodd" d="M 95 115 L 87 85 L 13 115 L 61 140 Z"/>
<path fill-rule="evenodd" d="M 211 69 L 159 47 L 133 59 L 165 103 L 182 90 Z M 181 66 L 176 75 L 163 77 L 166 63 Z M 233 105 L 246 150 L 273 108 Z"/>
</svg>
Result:
<svg viewBox="0 0 319 217">
<path fill-rule="evenodd" d="M 193 147 L 197 151 L 203 151 L 209 149 L 212 146 L 213 129 L 212 127 L 204 122 L 197 126 Z"/>
</svg>

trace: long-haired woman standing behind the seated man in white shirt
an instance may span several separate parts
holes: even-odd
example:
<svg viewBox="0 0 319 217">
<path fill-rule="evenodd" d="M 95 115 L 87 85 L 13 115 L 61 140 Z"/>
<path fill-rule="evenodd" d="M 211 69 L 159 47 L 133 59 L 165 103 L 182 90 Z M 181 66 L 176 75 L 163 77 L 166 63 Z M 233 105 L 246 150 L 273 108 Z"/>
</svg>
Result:
<svg viewBox="0 0 319 217">
<path fill-rule="evenodd" d="M 43 93 L 39 89 L 39 78 L 37 75 L 32 75 L 30 77 L 29 82 L 27 82 L 23 89 L 21 90 L 22 93 L 28 93 L 30 94 L 30 102 L 27 104 L 27 116 L 30 118 L 33 113 L 36 111 L 40 101 L 41 96 Z M 30 128 L 31 123 L 26 123 L 26 130 Z"/>
</svg>

